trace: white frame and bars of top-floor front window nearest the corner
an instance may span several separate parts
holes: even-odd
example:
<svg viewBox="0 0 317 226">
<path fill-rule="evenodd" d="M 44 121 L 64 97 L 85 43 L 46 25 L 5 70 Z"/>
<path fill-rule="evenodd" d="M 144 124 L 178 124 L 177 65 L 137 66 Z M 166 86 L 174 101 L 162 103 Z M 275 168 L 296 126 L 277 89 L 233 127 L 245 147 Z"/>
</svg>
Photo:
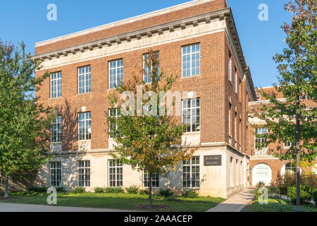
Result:
<svg viewBox="0 0 317 226">
<path fill-rule="evenodd" d="M 186 52 L 186 53 L 184 53 L 185 52 L 185 49 L 187 48 L 187 47 L 190 47 L 190 52 L 188 53 L 188 52 Z M 195 47 L 195 51 L 193 52 L 192 51 L 192 49 L 193 49 L 193 47 Z M 199 47 L 199 51 L 197 51 L 196 49 L 197 49 L 197 47 Z M 196 54 L 199 54 L 199 66 L 197 67 L 196 65 L 195 65 L 195 69 L 199 69 L 199 73 L 196 73 L 196 70 L 195 70 L 195 73 L 193 74 L 192 73 L 192 63 L 193 63 L 193 54 L 195 54 L 195 56 L 196 56 Z M 183 69 L 183 65 L 185 64 L 185 62 L 184 62 L 184 57 L 187 57 L 189 55 L 189 75 L 187 75 L 186 74 L 186 76 L 185 76 L 185 73 L 184 73 L 184 71 L 187 71 L 188 70 L 188 68 L 187 68 L 187 66 L 186 66 L 186 68 L 185 69 Z M 197 60 L 196 60 L 197 61 Z M 188 77 L 193 77 L 193 76 L 199 76 L 200 75 L 200 73 L 201 73 L 201 71 L 200 71 L 200 68 L 201 68 L 201 64 L 200 64 L 200 61 L 201 61 L 201 54 L 200 54 L 200 43 L 196 43 L 196 44 L 189 44 L 189 45 L 186 45 L 186 46 L 184 46 L 184 47 L 182 47 L 182 78 L 188 78 Z M 188 61 L 186 61 L 186 63 L 188 64 Z"/>
</svg>

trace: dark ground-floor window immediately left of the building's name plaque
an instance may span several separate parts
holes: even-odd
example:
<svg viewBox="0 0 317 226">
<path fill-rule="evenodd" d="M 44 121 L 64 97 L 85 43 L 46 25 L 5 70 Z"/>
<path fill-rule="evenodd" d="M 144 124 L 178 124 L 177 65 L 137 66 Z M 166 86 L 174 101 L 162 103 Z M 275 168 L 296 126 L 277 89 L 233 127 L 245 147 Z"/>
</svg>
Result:
<svg viewBox="0 0 317 226">
<path fill-rule="evenodd" d="M 192 160 L 182 161 L 182 186 L 199 188 L 199 156 Z"/>
</svg>

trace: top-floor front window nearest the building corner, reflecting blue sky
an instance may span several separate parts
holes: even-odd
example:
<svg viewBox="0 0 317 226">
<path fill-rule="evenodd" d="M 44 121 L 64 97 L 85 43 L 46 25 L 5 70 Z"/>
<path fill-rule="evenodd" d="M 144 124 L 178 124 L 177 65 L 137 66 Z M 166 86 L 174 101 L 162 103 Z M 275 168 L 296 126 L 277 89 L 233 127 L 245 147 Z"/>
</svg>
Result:
<svg viewBox="0 0 317 226">
<path fill-rule="evenodd" d="M 200 44 L 182 47 L 182 77 L 200 74 Z"/>
</svg>

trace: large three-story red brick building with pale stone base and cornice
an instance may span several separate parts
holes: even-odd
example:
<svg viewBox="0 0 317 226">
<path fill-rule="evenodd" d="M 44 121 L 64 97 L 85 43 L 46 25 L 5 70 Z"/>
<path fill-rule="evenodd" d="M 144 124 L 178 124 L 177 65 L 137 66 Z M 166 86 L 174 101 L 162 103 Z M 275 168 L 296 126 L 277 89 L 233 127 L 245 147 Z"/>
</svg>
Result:
<svg viewBox="0 0 317 226">
<path fill-rule="evenodd" d="M 160 70 L 178 76 L 173 91 L 196 92 L 182 97 L 178 120 L 190 124 L 184 143 L 201 143 L 168 177 L 154 175 L 154 189 L 228 198 L 249 186 L 248 107 L 256 93 L 225 0 L 190 1 L 35 44 L 33 58 L 43 59 L 36 76 L 51 73 L 36 95 L 58 114 L 54 155 L 37 174 L 39 185 L 147 188 L 147 174 L 109 154 L 105 114 L 116 114 L 107 96 L 118 78 L 142 78 L 136 66 L 142 68 L 149 49 L 159 52 Z"/>
</svg>

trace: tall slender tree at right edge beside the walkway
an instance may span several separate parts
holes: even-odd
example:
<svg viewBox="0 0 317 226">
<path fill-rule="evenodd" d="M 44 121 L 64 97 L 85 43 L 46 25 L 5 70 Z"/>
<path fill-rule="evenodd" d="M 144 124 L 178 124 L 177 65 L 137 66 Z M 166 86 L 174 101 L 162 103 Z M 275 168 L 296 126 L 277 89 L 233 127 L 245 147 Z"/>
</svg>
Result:
<svg viewBox="0 0 317 226">
<path fill-rule="evenodd" d="M 290 11 L 294 17 L 292 24 L 282 25 L 287 48 L 283 49 L 282 54 L 273 57 L 278 64 L 279 84 L 274 84 L 274 92 L 260 91 L 270 103 L 262 105 L 261 113 L 256 115 L 266 121 L 265 127 L 269 132 L 262 135 L 267 142 L 258 144 L 257 148 L 263 148 L 268 143 L 278 143 L 278 151 L 273 152 L 274 156 L 281 160 L 296 160 L 296 210 L 300 210 L 300 160 L 311 162 L 316 159 L 316 0 L 292 0 L 285 5 L 285 10 Z M 278 93 L 285 100 L 278 100 Z M 281 148 L 280 144 L 285 141 L 292 143 L 288 150 Z"/>
</svg>

